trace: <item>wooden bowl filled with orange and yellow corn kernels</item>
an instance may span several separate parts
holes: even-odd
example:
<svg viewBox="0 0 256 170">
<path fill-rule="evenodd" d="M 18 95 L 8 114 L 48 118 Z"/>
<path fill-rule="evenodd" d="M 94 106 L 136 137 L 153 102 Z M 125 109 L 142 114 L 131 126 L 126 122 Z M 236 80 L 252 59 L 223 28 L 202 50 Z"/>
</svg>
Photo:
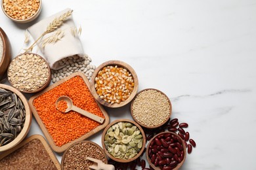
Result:
<svg viewBox="0 0 256 170">
<path fill-rule="evenodd" d="M 100 104 L 117 108 L 127 105 L 135 97 L 138 84 L 137 74 L 130 65 L 111 60 L 95 69 L 91 92 Z"/>
</svg>

